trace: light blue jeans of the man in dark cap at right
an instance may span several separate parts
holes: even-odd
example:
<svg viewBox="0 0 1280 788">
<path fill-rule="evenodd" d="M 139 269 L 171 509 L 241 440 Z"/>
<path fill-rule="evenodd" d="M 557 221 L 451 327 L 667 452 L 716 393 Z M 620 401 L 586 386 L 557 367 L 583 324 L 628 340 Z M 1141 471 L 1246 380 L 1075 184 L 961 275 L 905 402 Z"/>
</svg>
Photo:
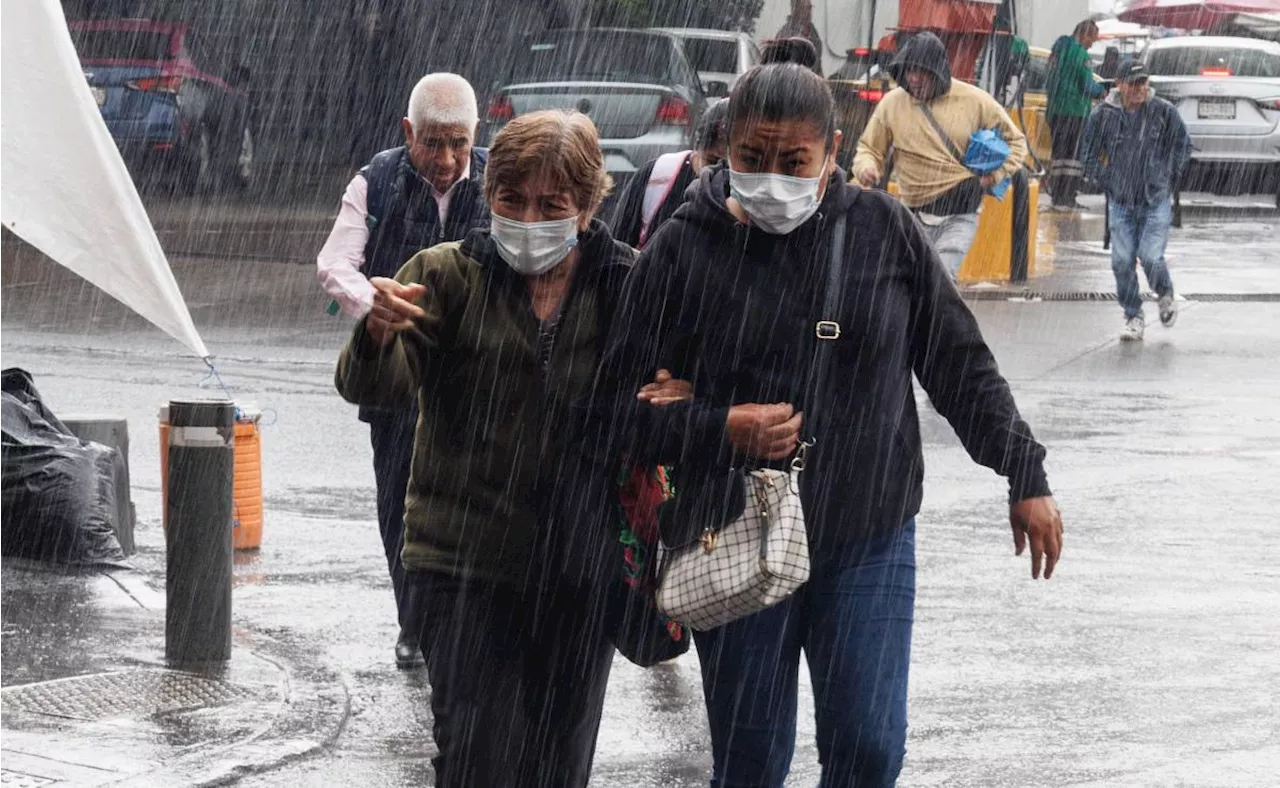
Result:
<svg viewBox="0 0 1280 788">
<path fill-rule="evenodd" d="M 1169 225 L 1174 220 L 1174 203 L 1124 206 L 1112 202 L 1107 219 L 1111 223 L 1111 270 L 1116 275 L 1116 298 L 1124 307 L 1125 320 L 1142 315 L 1142 292 L 1138 271 L 1147 272 L 1147 284 L 1157 296 L 1172 296 L 1174 280 L 1165 265 Z"/>
</svg>

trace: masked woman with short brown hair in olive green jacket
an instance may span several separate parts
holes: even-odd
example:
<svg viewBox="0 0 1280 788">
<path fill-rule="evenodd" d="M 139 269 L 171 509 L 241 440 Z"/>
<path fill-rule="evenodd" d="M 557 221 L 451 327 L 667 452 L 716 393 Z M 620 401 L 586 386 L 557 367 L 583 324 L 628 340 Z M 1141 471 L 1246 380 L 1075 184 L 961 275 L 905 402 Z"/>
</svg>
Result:
<svg viewBox="0 0 1280 788">
<path fill-rule="evenodd" d="M 436 785 L 590 773 L 613 656 L 595 592 L 612 480 L 582 461 L 572 404 L 634 260 L 594 219 L 609 185 L 585 115 L 512 120 L 489 150 L 492 230 L 374 279 L 338 365 L 349 402 L 420 407 L 403 562 L 425 610 Z"/>
</svg>

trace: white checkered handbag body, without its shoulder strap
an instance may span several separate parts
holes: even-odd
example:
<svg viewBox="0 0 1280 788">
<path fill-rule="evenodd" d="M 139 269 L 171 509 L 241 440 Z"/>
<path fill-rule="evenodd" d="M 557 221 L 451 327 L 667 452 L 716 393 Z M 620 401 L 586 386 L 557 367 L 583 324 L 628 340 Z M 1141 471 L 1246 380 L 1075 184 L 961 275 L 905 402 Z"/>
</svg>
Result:
<svg viewBox="0 0 1280 788">
<path fill-rule="evenodd" d="M 664 560 L 655 601 L 668 618 L 714 629 L 791 596 L 809 579 L 809 537 L 799 480 L 746 475 L 746 508 L 727 526 Z"/>
</svg>

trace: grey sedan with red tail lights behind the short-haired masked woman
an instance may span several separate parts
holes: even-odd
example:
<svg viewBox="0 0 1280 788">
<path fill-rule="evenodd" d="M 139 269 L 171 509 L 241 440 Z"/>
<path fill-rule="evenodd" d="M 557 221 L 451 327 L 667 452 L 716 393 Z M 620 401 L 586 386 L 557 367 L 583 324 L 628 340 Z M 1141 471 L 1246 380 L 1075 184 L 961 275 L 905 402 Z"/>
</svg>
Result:
<svg viewBox="0 0 1280 788">
<path fill-rule="evenodd" d="M 675 36 L 641 29 L 553 29 L 525 37 L 490 93 L 486 139 L 516 115 L 579 110 L 600 132 L 604 166 L 623 183 L 652 159 L 686 150 L 707 105 Z"/>
</svg>

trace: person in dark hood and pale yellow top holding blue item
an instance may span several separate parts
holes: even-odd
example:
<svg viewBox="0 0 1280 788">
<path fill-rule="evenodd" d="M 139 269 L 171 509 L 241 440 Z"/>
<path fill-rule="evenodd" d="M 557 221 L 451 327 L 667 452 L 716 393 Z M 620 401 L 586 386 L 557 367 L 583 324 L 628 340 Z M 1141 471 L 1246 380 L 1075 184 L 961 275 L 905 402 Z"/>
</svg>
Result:
<svg viewBox="0 0 1280 788">
<path fill-rule="evenodd" d="M 1027 137 L 989 93 L 951 78 L 947 50 L 933 33 L 908 41 L 890 73 L 899 87 L 881 100 L 858 141 L 854 179 L 867 188 L 879 183 L 893 148 L 902 203 L 924 225 L 954 280 L 978 233 L 983 193 L 1023 166 Z M 964 165 L 979 129 L 996 129 L 1009 143 L 1004 165 L 987 175 Z"/>
</svg>

